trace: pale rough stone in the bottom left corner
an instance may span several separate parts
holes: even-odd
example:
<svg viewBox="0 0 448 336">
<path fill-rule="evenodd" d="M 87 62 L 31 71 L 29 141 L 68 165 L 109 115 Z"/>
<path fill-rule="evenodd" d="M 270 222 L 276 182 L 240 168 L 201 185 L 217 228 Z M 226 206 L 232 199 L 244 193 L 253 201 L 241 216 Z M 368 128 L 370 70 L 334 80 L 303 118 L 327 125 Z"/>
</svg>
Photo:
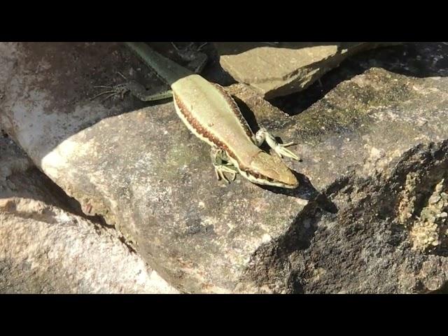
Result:
<svg viewBox="0 0 448 336">
<path fill-rule="evenodd" d="M 0 293 L 177 293 L 0 139 Z M 65 202 L 64 202 L 65 201 Z"/>
</svg>

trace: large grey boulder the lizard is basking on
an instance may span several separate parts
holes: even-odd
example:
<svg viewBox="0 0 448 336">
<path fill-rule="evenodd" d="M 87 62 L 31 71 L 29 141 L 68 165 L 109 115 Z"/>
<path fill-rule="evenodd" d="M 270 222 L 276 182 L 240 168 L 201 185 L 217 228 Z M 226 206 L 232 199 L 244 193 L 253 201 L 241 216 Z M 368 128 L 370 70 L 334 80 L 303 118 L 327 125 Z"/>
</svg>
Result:
<svg viewBox="0 0 448 336">
<path fill-rule="evenodd" d="M 207 144 L 171 102 L 88 99 L 115 71 L 138 77 L 142 67 L 113 43 L 2 43 L 0 121 L 170 284 L 423 293 L 447 281 L 447 78 L 372 68 L 297 116 L 232 87 L 254 130 L 256 120 L 298 144 L 303 161 L 287 164 L 301 186 L 281 190 L 216 181 Z"/>
</svg>

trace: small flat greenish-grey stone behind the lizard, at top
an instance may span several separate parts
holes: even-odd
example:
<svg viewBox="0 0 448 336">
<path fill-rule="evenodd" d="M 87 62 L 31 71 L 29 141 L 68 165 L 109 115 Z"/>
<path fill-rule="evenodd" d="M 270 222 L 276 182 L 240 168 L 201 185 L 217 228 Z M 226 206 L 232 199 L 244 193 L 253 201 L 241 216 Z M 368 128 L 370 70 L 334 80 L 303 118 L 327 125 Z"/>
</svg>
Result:
<svg viewBox="0 0 448 336">
<path fill-rule="evenodd" d="M 299 92 L 356 52 L 392 42 L 215 42 L 221 66 L 270 99 Z"/>
</svg>

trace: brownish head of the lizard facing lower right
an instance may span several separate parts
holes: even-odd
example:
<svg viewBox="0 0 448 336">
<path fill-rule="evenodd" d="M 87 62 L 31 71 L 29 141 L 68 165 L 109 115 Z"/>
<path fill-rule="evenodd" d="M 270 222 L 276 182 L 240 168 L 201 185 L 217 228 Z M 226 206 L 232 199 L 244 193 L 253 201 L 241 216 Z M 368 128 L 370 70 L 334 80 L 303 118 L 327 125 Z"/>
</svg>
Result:
<svg viewBox="0 0 448 336">
<path fill-rule="evenodd" d="M 260 152 L 253 157 L 245 169 L 239 167 L 239 172 L 253 183 L 281 188 L 297 188 L 299 182 L 293 172 L 276 156 Z"/>
</svg>

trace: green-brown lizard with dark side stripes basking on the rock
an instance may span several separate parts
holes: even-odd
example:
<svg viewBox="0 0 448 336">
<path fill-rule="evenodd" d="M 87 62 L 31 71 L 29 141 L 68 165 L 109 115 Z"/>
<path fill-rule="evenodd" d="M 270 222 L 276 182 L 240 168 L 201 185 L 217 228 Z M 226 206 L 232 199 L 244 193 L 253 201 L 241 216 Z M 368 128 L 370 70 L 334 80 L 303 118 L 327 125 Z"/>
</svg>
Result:
<svg viewBox="0 0 448 336">
<path fill-rule="evenodd" d="M 211 146 L 211 160 L 218 180 L 223 179 L 230 183 L 235 181 L 239 173 L 258 185 L 298 187 L 295 175 L 281 160 L 283 156 L 300 160 L 286 148 L 293 145 L 292 142 L 279 144 L 265 128 L 260 128 L 254 134 L 239 106 L 225 88 L 209 82 L 200 76 L 198 71 L 187 69 L 160 55 L 146 43 L 125 44 L 153 69 L 171 90 L 149 95 L 143 85 L 129 81 L 109 87 L 113 90 L 97 96 L 111 93 L 119 94 L 123 99 L 125 93 L 131 92 L 145 102 L 173 97 L 176 113 L 188 130 Z M 197 66 L 196 70 L 202 67 Z M 265 141 L 278 156 L 262 151 L 260 146 Z M 232 179 L 229 180 L 225 173 L 232 174 Z"/>
</svg>

